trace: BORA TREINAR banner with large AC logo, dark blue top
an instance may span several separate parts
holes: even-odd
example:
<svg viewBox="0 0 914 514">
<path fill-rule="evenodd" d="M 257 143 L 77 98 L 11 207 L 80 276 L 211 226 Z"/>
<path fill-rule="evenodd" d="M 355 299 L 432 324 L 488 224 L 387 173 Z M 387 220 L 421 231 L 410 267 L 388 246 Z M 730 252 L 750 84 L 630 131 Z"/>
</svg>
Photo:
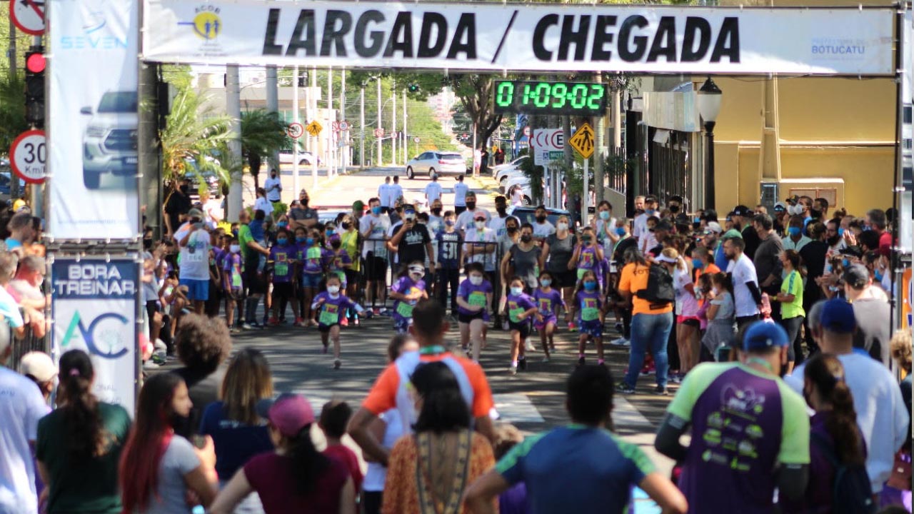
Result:
<svg viewBox="0 0 914 514">
<path fill-rule="evenodd" d="M 140 267 L 135 256 L 121 259 L 57 257 L 51 263 L 51 352 L 89 354 L 95 370 L 92 392 L 133 414 L 138 380 L 137 294 Z"/>
</svg>

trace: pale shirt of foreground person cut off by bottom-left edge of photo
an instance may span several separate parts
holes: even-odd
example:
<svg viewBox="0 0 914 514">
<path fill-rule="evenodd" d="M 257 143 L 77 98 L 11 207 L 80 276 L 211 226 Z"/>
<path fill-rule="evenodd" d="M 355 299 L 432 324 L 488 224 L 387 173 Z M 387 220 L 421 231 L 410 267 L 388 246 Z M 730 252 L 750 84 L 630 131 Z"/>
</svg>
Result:
<svg viewBox="0 0 914 514">
<path fill-rule="evenodd" d="M 35 382 L 0 366 L 0 512 L 38 511 L 35 463 L 29 441 L 50 409 Z"/>
</svg>

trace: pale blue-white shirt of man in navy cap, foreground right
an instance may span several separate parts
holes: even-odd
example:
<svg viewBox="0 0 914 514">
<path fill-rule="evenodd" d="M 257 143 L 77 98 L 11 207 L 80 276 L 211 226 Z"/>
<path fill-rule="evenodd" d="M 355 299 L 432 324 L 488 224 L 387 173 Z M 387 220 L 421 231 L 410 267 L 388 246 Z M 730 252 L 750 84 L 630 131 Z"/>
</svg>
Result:
<svg viewBox="0 0 914 514">
<path fill-rule="evenodd" d="M 866 441 L 866 473 L 877 493 L 892 474 L 895 453 L 909 436 L 908 409 L 898 381 L 881 362 L 858 353 L 845 353 L 838 359 L 845 367 L 845 381 L 854 395 L 857 426 Z M 793 391 L 801 394 L 804 369 L 805 363 L 784 377 Z"/>
</svg>

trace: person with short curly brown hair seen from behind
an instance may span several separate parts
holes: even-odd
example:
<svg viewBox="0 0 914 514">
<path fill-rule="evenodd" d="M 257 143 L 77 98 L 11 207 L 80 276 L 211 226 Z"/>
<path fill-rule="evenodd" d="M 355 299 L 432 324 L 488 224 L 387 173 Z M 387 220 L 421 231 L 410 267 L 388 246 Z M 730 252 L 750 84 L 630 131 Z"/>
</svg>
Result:
<svg viewBox="0 0 914 514">
<path fill-rule="evenodd" d="M 221 319 L 187 314 L 178 323 L 175 347 L 184 368 L 173 373 L 184 379 L 194 402 L 190 416 L 175 426 L 175 433 L 190 437 L 197 433 L 203 409 L 219 399 L 225 376 L 225 369 L 219 365 L 231 352 L 231 336 Z"/>
</svg>

